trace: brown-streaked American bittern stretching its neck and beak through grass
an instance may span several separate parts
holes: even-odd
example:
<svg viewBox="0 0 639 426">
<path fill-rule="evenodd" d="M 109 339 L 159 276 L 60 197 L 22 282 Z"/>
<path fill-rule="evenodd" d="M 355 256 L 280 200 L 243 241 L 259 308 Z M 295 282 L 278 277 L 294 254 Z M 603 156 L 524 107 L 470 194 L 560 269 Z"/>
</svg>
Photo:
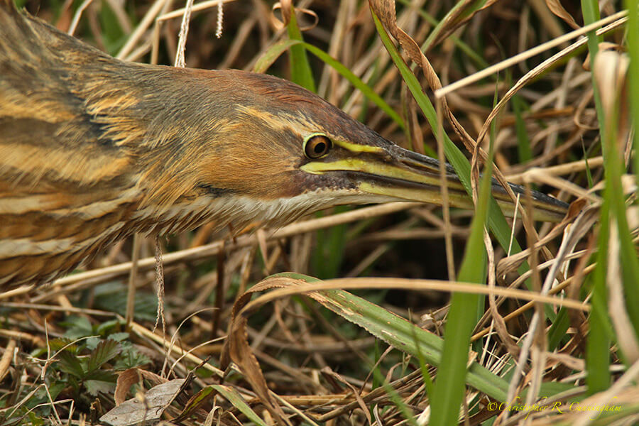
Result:
<svg viewBox="0 0 639 426">
<path fill-rule="evenodd" d="M 285 80 L 123 62 L 0 0 L 0 287 L 53 280 L 135 232 L 440 203 L 438 167 Z M 450 204 L 472 208 L 447 174 Z M 534 204 L 538 220 L 567 209 Z"/>
</svg>

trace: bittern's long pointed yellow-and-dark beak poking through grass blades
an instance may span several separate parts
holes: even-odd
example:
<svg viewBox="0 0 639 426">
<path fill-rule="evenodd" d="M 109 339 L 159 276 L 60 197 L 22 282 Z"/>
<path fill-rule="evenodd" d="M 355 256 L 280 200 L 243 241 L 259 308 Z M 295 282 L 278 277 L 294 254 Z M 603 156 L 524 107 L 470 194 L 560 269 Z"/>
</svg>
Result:
<svg viewBox="0 0 639 426">
<path fill-rule="evenodd" d="M 439 161 L 408 151 L 394 144 L 386 147 L 359 145 L 344 141 L 334 144 L 350 151 L 345 158 L 317 160 L 302 166 L 307 173 L 347 173 L 359 190 L 371 195 L 396 200 L 409 200 L 442 205 L 442 182 L 439 178 Z M 448 201 L 451 207 L 474 209 L 471 198 L 461 185 L 452 166 L 446 165 Z M 520 204 L 526 207 L 525 188 L 510 184 L 515 195 L 520 194 Z M 493 179 L 492 194 L 506 216 L 513 217 L 515 204 L 506 190 Z M 533 219 L 544 222 L 560 222 L 568 204 L 541 192 L 532 191 Z"/>
</svg>

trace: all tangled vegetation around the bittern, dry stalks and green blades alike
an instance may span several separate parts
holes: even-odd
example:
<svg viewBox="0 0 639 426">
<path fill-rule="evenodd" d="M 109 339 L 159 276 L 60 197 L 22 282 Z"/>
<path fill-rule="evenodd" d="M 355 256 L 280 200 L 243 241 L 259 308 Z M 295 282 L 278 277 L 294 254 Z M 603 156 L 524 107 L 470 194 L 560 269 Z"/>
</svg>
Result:
<svg viewBox="0 0 639 426">
<path fill-rule="evenodd" d="M 293 20 L 288 1 L 195 4 L 187 66 L 313 84 L 452 161 L 439 123 L 472 170 L 493 153 L 494 173 L 573 202 L 569 217 L 504 228 L 490 211 L 485 241 L 479 214 L 414 203 L 235 238 L 202 226 L 160 239 L 163 280 L 154 239 L 121 241 L 48 288 L 0 294 L 0 423 L 636 424 L 636 90 L 623 70 L 639 30 L 619 2 L 600 2 L 604 22 L 596 1 L 570 3 L 302 0 Z M 164 64 L 182 6 L 26 1 L 118 58 Z"/>
</svg>

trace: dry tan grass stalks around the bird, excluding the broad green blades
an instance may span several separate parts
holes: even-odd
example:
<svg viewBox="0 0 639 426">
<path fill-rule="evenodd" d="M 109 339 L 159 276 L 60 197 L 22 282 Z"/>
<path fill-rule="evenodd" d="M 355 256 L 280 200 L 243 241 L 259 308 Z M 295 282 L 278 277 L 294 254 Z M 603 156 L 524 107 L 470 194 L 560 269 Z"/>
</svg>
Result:
<svg viewBox="0 0 639 426">
<path fill-rule="evenodd" d="M 184 13 L 178 10 L 181 2 L 123 5 L 116 0 L 94 0 L 81 12 L 79 2 L 72 6 L 69 1 L 56 6 L 26 3 L 28 10 L 58 28 L 67 30 L 77 22 L 75 35 L 119 58 L 173 64 L 178 57 Z M 222 37 L 218 39 L 220 13 L 211 5 L 214 2 L 204 3 L 205 8 L 196 5 L 191 12 L 185 45 L 188 67 L 251 70 L 263 53 L 287 37 L 275 18 L 281 16 L 280 11 L 272 14 L 271 5 L 261 0 L 237 0 L 224 4 Z M 612 232 L 606 245 L 598 241 L 606 175 L 593 84 L 590 72 L 581 65 L 587 53 L 586 39 L 575 38 L 579 33 L 568 36 L 573 28 L 548 9 L 547 4 L 559 2 L 486 3 L 486 9 L 466 21 L 464 13 L 447 15 L 452 1 L 402 1 L 396 22 L 422 46 L 444 87 L 438 94 L 446 94 L 451 113 L 471 140 L 481 140 L 486 151 L 493 141 L 494 163 L 503 175 L 559 199 L 584 202 L 574 204 L 578 209 L 572 217 L 557 226 L 537 224 L 525 231 L 522 222 L 515 220 L 513 237 L 529 249 L 509 253 L 508 248 L 488 244 L 493 248 L 488 264 L 476 265 L 488 269 L 490 279 L 484 283 L 493 286 L 476 288 L 476 293 L 491 296 L 482 303 L 474 323 L 469 365 L 484 366 L 498 383 L 506 383 L 508 400 L 520 395 L 515 402 L 545 409 L 503 410 L 494 395 L 468 386 L 459 419 L 468 425 L 515 425 L 525 417 L 535 425 L 586 424 L 596 415 L 572 407 L 609 405 L 620 409 L 602 413 L 592 422 L 631 424 L 639 415 L 638 324 L 628 314 L 623 297 L 630 284 L 620 264 L 623 247 L 617 244 L 618 236 Z M 434 132 L 376 34 L 368 4 L 300 1 L 295 6 L 308 9 L 298 15 L 302 26 L 317 17 L 317 25 L 303 33 L 305 41 L 337 58 L 371 86 L 400 113 L 406 130 L 338 72 L 313 57 L 310 64 L 317 92 L 382 136 L 420 153 L 437 152 Z M 620 28 L 625 21 L 615 15 L 619 10 L 606 2 L 602 16 L 613 18 L 593 28 L 611 24 L 601 33 L 606 33 L 609 42 L 621 45 Z M 566 13 L 577 26 L 583 25 L 579 8 Z M 434 33 L 429 16 L 447 18 Z M 542 47 L 531 50 L 537 46 Z M 530 55 L 520 55 L 525 51 Z M 489 64 L 503 66 L 496 73 Z M 285 57 L 276 60 L 268 72 L 290 76 L 288 61 Z M 415 73 L 422 79 L 420 67 L 415 67 Z M 604 96 L 616 93 L 619 81 L 606 80 L 600 92 Z M 424 80 L 422 87 L 435 99 L 432 82 Z M 493 98 L 498 101 L 495 108 Z M 627 105 L 622 107 L 627 111 Z M 464 146 L 454 136 L 451 121 L 442 121 L 444 131 Z M 491 124 L 495 125 L 492 135 Z M 627 133 L 619 136 L 618 148 L 625 153 L 626 164 L 630 162 Z M 469 158 L 472 154 L 466 151 Z M 623 182 L 624 193 L 635 190 L 634 178 Z M 355 320 L 356 315 L 345 305 L 329 300 L 329 295 L 342 293 L 309 293 L 322 284 L 309 285 L 310 280 L 299 275 L 287 276 L 285 284 L 282 280 L 273 284 L 288 286 L 282 290 L 272 290 L 268 283 L 273 281 L 262 283 L 259 289 L 266 291 L 266 299 L 251 305 L 260 309 L 244 316 L 231 315 L 231 309 L 247 289 L 268 275 L 295 271 L 327 279 L 324 288 L 356 288 L 378 307 L 418 324 L 432 336 L 442 336 L 449 309 L 447 293 L 473 291 L 463 283 L 447 281 L 452 272 L 459 271 L 471 217 L 469 212 L 451 210 L 444 215 L 437 207 L 395 203 L 334 209 L 322 217 L 307 217 L 282 229 L 259 230 L 235 239 L 214 235 L 208 226 L 162 239 L 165 325 L 160 327 L 154 326 L 155 241 L 138 241 L 135 273 L 131 273 L 133 241 L 121 241 L 86 271 L 48 288 L 0 294 L 0 342 L 4 346 L 0 349 L 0 423 L 92 422 L 114 407 L 114 393 L 133 398 L 142 388 L 166 379 L 188 378 L 188 388 L 165 412 L 165 418 L 171 419 L 190 408 L 189 416 L 182 420 L 187 425 L 204 424 L 207 417 L 229 425 L 259 423 L 251 420 L 231 391 L 239 393 L 266 424 L 280 413 L 273 413 L 273 408 L 264 410 L 269 404 L 290 415 L 293 424 L 395 425 L 407 419 L 410 424 L 423 424 L 430 416 L 432 380 L 439 378 L 435 378 L 435 362 L 428 361 L 430 354 L 420 353 L 421 337 L 415 334 L 413 338 L 409 332 L 405 346 L 400 346 L 400 338 L 390 336 L 404 322 L 398 320 L 384 330 L 376 324 L 372 310 L 358 312 Z M 636 207 L 628 208 L 635 249 L 637 218 Z M 602 247 L 607 257 L 599 256 Z M 611 374 L 611 383 L 603 388 L 586 381 L 586 374 L 593 371 L 588 364 L 593 362 L 588 346 L 591 292 L 599 282 L 596 261 L 601 263 L 602 258 L 608 259 L 603 283 L 611 293 L 603 308 L 611 317 L 609 335 L 613 337 L 603 339 L 610 365 L 601 368 L 608 368 Z M 530 265 L 528 271 L 522 268 L 525 261 Z M 348 279 L 356 276 L 398 279 Z M 329 280 L 339 277 L 348 278 Z M 137 293 L 134 322 L 129 327 L 124 320 L 127 294 L 132 294 L 126 288 L 127 280 Z M 310 297 L 291 297 L 301 293 Z M 241 304 L 236 310 L 239 307 Z M 244 348 L 243 355 L 247 355 L 248 346 L 241 345 L 250 344 L 261 372 L 249 371 L 253 366 L 246 359 L 244 366 L 240 363 L 240 373 L 232 368 L 226 371 L 227 388 L 212 388 L 222 383 L 224 372 L 219 368 L 229 355 L 223 355 L 222 344 L 231 318 L 248 320 L 249 341 L 238 343 L 236 350 Z M 368 325 L 359 322 L 366 320 Z M 119 342 L 111 349 L 113 356 L 107 356 L 109 346 L 104 342 Z M 441 354 L 441 347 L 433 350 Z M 74 370 L 74 357 L 92 359 L 98 352 L 104 359 L 97 368 L 100 373 L 88 377 L 84 371 L 81 377 L 83 372 Z M 234 361 L 239 363 L 237 358 Z M 200 367 L 190 376 L 196 366 Z M 144 373 L 126 386 L 119 383 L 116 391 L 116 373 L 124 376 L 127 368 L 137 368 L 129 369 L 129 376 Z M 255 375 L 262 373 L 277 398 L 264 396 L 266 391 L 260 390 Z M 130 393 L 127 386 L 133 386 Z M 190 395 L 204 395 L 202 390 L 216 396 L 202 396 L 197 407 L 193 400 L 187 402 Z M 586 395 L 591 396 L 585 399 Z M 455 412 L 452 415 L 457 417 Z M 613 417 L 606 419 L 606 415 Z"/>
</svg>

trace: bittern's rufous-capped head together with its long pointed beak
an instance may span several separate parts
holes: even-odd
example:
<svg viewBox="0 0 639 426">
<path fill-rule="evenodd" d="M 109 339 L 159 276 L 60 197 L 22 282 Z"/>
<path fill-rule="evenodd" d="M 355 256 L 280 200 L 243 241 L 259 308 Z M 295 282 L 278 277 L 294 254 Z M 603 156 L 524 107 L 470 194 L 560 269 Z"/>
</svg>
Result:
<svg viewBox="0 0 639 426">
<path fill-rule="evenodd" d="M 207 105 L 188 117 L 202 133 L 191 142 L 197 153 L 180 167 L 191 175 L 180 180 L 212 206 L 231 203 L 277 224 L 336 204 L 441 204 L 441 185 L 447 185 L 452 206 L 472 208 L 450 166 L 442 184 L 437 160 L 387 141 L 296 84 L 241 71 L 196 74 L 207 87 L 197 99 Z M 512 213 L 503 188 L 493 185 L 493 194 Z M 535 204 L 537 219 L 557 220 L 565 212 L 564 203 L 538 193 Z"/>
</svg>

